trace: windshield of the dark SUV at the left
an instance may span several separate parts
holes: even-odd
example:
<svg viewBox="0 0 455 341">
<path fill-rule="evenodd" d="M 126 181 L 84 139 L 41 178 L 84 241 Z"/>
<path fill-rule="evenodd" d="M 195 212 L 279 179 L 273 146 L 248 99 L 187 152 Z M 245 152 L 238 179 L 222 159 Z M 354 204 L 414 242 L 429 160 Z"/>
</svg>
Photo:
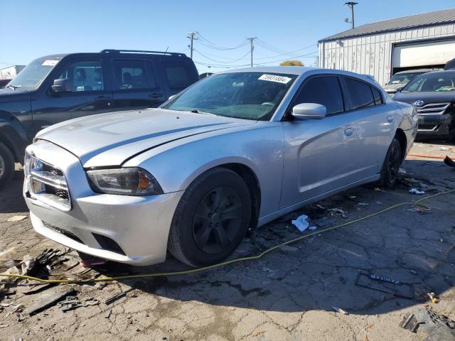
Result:
<svg viewBox="0 0 455 341">
<path fill-rule="evenodd" d="M 21 89 L 36 89 L 50 70 L 58 63 L 60 58 L 39 58 L 28 64 L 19 74 L 9 82 L 9 87 L 20 87 Z"/>
</svg>

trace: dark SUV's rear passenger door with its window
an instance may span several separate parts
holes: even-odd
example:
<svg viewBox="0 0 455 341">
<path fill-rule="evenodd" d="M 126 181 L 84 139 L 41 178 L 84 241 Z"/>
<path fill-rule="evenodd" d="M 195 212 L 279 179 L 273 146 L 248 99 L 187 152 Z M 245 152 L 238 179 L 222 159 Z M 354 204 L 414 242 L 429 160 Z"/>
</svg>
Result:
<svg viewBox="0 0 455 341">
<path fill-rule="evenodd" d="M 158 107 L 166 95 L 149 59 L 114 58 L 113 97 L 116 110 Z"/>
</svg>

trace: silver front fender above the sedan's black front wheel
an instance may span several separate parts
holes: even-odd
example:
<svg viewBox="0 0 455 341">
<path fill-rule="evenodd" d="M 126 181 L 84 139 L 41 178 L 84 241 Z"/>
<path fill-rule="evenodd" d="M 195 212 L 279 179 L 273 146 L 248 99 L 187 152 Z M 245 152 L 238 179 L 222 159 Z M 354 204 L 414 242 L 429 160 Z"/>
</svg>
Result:
<svg viewBox="0 0 455 341">
<path fill-rule="evenodd" d="M 254 173 L 261 190 L 259 215 L 279 207 L 283 171 L 283 127 L 264 121 L 173 141 L 124 163 L 148 170 L 165 193 L 186 190 L 210 168 L 239 163 Z"/>
</svg>

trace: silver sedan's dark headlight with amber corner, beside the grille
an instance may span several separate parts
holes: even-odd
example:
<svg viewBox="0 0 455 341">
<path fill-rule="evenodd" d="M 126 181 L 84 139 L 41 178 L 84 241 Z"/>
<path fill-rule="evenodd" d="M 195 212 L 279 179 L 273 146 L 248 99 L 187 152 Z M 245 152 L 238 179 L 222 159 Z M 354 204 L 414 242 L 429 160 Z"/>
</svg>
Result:
<svg viewBox="0 0 455 341">
<path fill-rule="evenodd" d="M 97 193 L 120 195 L 163 194 L 158 181 L 139 167 L 87 171 L 90 187 Z"/>
</svg>

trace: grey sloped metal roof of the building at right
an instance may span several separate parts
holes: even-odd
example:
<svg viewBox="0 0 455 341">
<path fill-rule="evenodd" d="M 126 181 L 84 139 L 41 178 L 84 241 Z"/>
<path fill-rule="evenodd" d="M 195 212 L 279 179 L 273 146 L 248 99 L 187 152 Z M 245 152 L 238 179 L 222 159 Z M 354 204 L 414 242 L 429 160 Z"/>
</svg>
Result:
<svg viewBox="0 0 455 341">
<path fill-rule="evenodd" d="M 327 38 L 319 40 L 319 43 L 328 40 L 338 40 L 342 38 L 351 38 L 356 36 L 366 36 L 375 33 L 398 31 L 407 28 L 434 26 L 442 23 L 455 22 L 455 9 L 443 9 L 441 11 L 427 12 L 416 14 L 414 16 L 403 16 L 375 23 L 367 23 L 362 26 L 344 31 Z"/>
</svg>

